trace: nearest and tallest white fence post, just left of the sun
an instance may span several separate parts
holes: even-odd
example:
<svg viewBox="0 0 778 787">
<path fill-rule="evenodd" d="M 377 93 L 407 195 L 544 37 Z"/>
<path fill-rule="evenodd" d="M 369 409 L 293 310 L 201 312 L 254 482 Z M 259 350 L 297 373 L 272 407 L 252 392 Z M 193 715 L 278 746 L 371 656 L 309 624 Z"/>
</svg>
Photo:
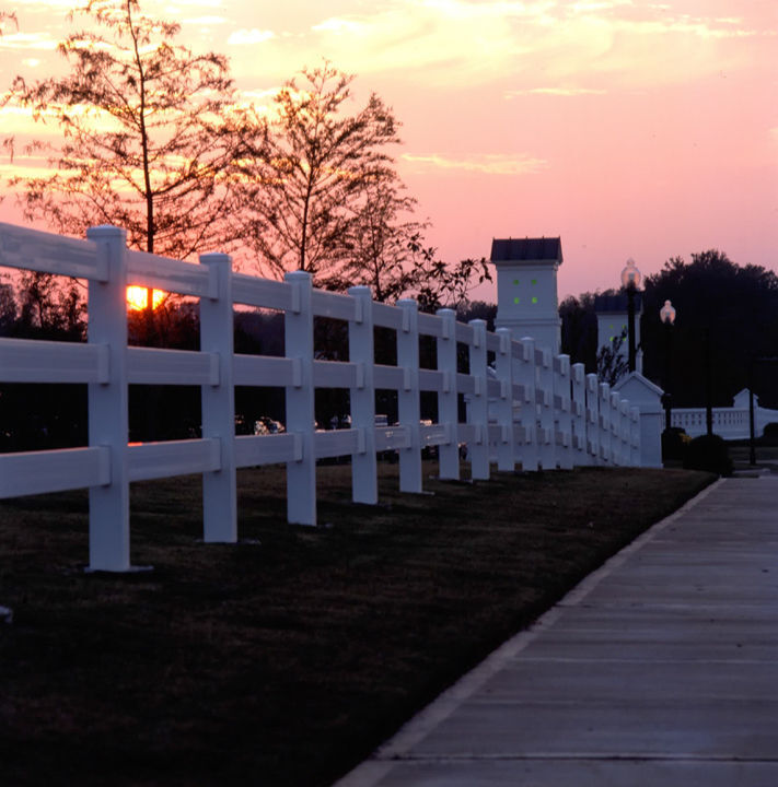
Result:
<svg viewBox="0 0 778 787">
<path fill-rule="evenodd" d="M 108 348 L 107 383 L 90 383 L 89 444 L 108 450 L 111 483 L 89 491 L 89 565 L 92 571 L 130 569 L 127 438 L 127 233 L 95 226 L 86 237 L 97 245 L 108 280 L 89 282 L 89 343 Z"/>
</svg>

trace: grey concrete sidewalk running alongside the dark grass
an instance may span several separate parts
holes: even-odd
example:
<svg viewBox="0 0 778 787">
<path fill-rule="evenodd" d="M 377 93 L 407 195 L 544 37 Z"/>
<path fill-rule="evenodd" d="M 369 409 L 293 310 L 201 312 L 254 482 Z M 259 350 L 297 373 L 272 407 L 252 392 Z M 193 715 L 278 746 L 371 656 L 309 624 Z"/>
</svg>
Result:
<svg viewBox="0 0 778 787">
<path fill-rule="evenodd" d="M 778 479 L 719 481 L 336 787 L 776 787 Z"/>
</svg>

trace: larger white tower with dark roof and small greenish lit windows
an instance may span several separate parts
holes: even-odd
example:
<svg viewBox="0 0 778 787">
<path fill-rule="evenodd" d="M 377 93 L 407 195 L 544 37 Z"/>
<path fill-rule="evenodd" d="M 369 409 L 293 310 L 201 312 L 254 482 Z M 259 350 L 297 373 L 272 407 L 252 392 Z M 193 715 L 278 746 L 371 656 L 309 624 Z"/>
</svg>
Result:
<svg viewBox="0 0 778 787">
<path fill-rule="evenodd" d="M 554 355 L 561 343 L 557 301 L 557 269 L 562 262 L 561 238 L 491 242 L 497 268 L 497 328 L 510 328 L 514 339 L 532 337 Z"/>
</svg>

